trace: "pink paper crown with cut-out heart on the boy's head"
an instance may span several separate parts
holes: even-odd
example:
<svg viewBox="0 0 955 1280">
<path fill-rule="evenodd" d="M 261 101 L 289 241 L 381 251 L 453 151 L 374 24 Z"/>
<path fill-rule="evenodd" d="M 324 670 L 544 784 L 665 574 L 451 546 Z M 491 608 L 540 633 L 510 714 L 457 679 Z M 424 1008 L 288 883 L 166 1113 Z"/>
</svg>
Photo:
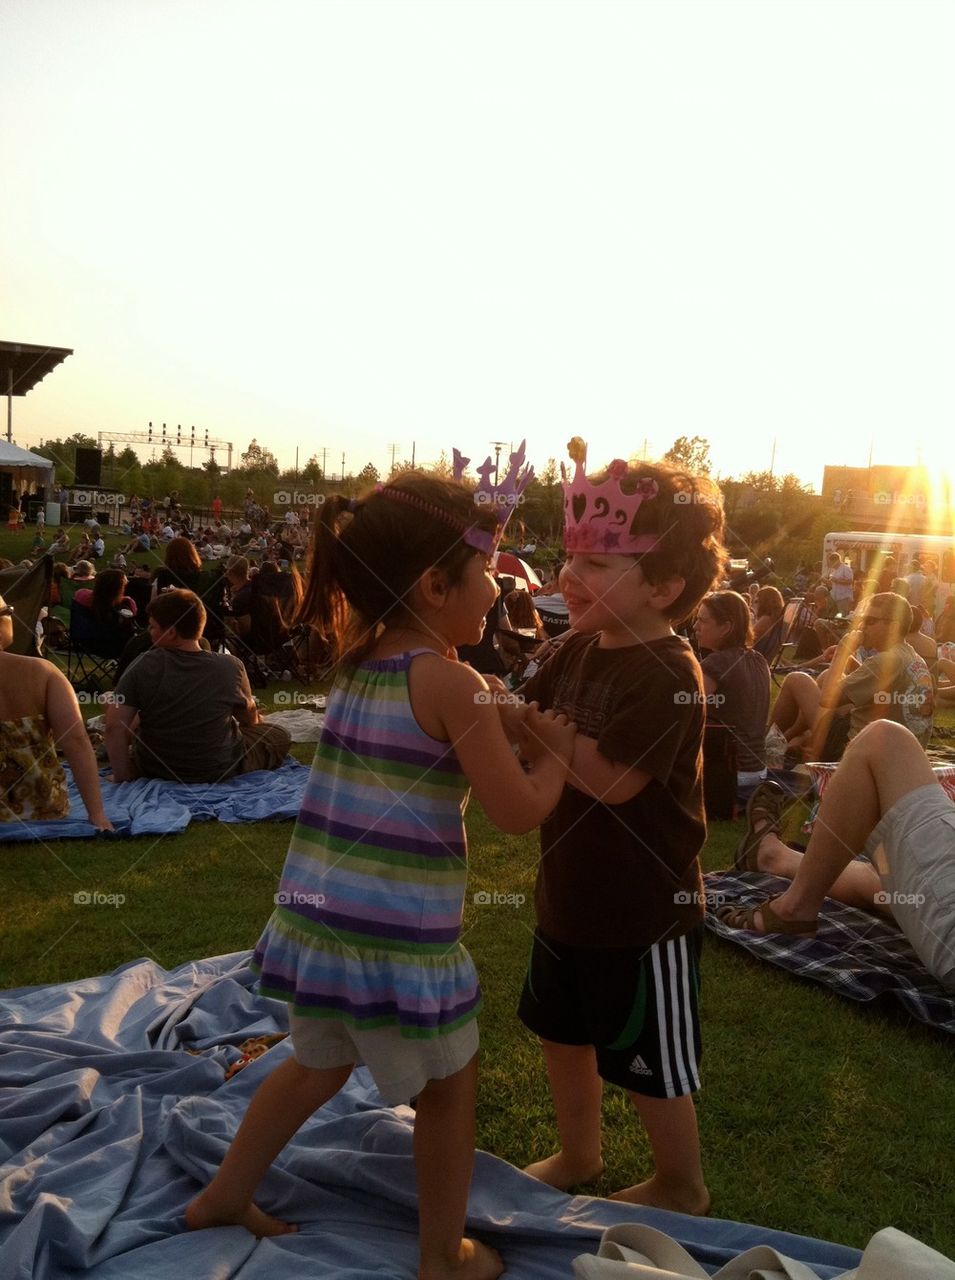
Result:
<svg viewBox="0 0 955 1280">
<path fill-rule="evenodd" d="M 586 444 L 575 435 L 567 452 L 576 462 L 574 479 L 561 463 L 563 488 L 563 547 L 567 552 L 595 552 L 599 556 L 643 556 L 657 545 L 655 534 L 631 534 L 640 506 L 655 498 L 657 481 L 640 476 L 634 493 L 623 493 L 620 481 L 629 467 L 614 458 L 607 479 L 594 484 L 584 474 Z"/>
</svg>

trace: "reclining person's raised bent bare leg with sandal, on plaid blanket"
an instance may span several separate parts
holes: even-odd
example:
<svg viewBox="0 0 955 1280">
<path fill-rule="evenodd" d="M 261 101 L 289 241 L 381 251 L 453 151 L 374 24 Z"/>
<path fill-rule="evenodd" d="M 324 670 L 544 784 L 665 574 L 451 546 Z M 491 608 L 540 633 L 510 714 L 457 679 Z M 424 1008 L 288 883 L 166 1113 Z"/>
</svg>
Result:
<svg viewBox="0 0 955 1280">
<path fill-rule="evenodd" d="M 792 864 L 792 883 L 773 901 L 776 914 L 783 920 L 810 920 L 818 915 L 823 899 L 862 852 L 879 818 L 903 796 L 935 781 L 926 753 L 906 728 L 894 721 L 868 724 L 846 748 L 826 788 L 805 855 Z M 773 838 L 767 837 L 759 846 L 758 865 L 764 865 L 766 847 L 766 870 L 785 865 L 777 847 L 780 841 L 773 844 Z M 849 874 L 858 877 L 851 869 Z M 853 879 L 849 891 L 863 892 L 862 881 Z M 762 919 L 757 919 L 762 925 Z"/>
</svg>

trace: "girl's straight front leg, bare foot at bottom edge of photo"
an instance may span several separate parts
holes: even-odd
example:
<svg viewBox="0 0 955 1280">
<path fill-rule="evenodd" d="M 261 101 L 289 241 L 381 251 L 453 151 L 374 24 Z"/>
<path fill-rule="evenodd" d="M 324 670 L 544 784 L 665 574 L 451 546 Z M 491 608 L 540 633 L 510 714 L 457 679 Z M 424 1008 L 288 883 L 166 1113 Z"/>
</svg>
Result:
<svg viewBox="0 0 955 1280">
<path fill-rule="evenodd" d="M 454 1075 L 429 1080 L 417 1100 L 419 1280 L 495 1280 L 504 1270 L 499 1253 L 465 1238 L 476 1088 L 478 1055 Z"/>
</svg>

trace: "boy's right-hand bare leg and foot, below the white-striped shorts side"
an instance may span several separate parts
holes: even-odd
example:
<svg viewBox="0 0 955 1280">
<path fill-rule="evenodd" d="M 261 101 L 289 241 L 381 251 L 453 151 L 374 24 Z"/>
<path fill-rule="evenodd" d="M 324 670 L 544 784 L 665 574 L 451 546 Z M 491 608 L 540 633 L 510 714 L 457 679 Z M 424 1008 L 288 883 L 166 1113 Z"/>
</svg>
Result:
<svg viewBox="0 0 955 1280">
<path fill-rule="evenodd" d="M 630 1101 L 646 1129 L 655 1167 L 645 1183 L 614 1192 L 611 1199 L 650 1204 L 677 1213 L 708 1213 L 710 1201 L 703 1180 L 693 1094 L 650 1098 L 644 1093 L 630 1093 Z"/>
</svg>

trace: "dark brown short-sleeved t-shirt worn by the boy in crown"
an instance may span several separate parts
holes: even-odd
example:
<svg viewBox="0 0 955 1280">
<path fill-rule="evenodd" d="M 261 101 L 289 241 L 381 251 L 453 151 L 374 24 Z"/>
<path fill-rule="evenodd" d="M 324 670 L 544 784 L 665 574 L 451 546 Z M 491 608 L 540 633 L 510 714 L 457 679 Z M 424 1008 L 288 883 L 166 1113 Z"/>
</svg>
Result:
<svg viewBox="0 0 955 1280">
<path fill-rule="evenodd" d="M 649 946 L 703 919 L 700 668 L 678 636 L 625 649 L 597 641 L 571 635 L 521 692 L 652 781 L 617 805 L 565 786 L 540 828 L 538 924 L 567 946 Z"/>
</svg>

